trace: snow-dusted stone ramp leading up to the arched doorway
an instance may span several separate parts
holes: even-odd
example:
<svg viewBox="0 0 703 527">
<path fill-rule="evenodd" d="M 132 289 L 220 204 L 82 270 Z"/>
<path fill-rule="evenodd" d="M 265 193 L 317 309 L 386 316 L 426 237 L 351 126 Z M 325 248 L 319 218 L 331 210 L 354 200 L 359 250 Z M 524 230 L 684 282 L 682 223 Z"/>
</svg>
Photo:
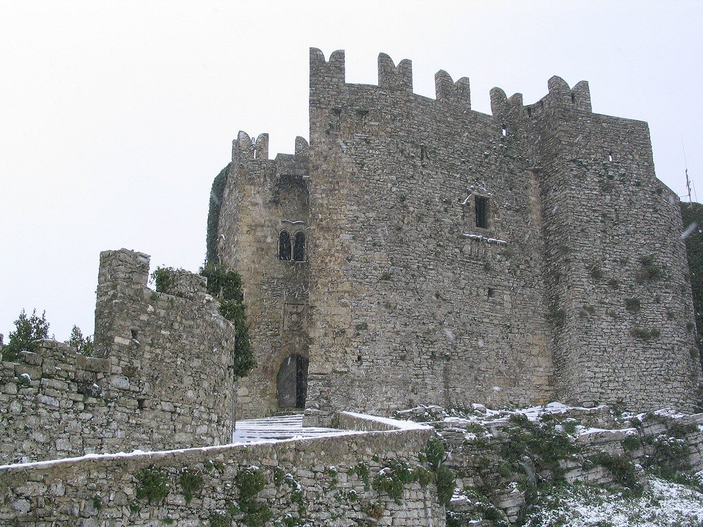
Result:
<svg viewBox="0 0 703 527">
<path fill-rule="evenodd" d="M 347 434 L 359 434 L 359 432 L 336 428 L 303 427 L 302 414 L 278 415 L 237 421 L 232 434 L 232 442 L 252 443 L 271 439 L 304 439 Z"/>
</svg>

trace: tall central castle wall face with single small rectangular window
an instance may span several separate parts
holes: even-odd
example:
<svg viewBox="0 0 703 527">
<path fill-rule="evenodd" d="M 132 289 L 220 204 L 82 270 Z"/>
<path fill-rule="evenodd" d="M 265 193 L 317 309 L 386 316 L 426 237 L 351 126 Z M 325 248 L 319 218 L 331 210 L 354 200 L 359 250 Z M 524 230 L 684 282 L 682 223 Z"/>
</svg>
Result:
<svg viewBox="0 0 703 527">
<path fill-rule="evenodd" d="M 345 84 L 343 52 L 311 51 L 309 407 L 553 394 L 531 160 L 470 110 L 468 79 L 436 81 L 417 96 L 381 55 L 379 86 Z"/>
</svg>

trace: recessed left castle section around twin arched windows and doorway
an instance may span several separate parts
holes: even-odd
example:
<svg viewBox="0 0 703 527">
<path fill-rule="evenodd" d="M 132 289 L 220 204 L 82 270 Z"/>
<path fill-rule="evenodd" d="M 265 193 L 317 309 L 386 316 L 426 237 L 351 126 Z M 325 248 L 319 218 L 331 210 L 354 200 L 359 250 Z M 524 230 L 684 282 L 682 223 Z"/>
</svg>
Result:
<svg viewBox="0 0 703 527">
<path fill-rule="evenodd" d="M 257 366 L 238 383 L 238 416 L 271 415 L 280 408 L 276 378 L 293 354 L 307 358 L 309 268 L 280 259 L 278 240 L 288 232 L 308 236 L 308 145 L 297 138 L 295 155 L 269 160 L 266 134 L 256 141 L 240 132 L 222 198 L 219 260 L 242 276 L 244 303 Z M 306 243 L 307 249 L 307 243 Z"/>
</svg>

